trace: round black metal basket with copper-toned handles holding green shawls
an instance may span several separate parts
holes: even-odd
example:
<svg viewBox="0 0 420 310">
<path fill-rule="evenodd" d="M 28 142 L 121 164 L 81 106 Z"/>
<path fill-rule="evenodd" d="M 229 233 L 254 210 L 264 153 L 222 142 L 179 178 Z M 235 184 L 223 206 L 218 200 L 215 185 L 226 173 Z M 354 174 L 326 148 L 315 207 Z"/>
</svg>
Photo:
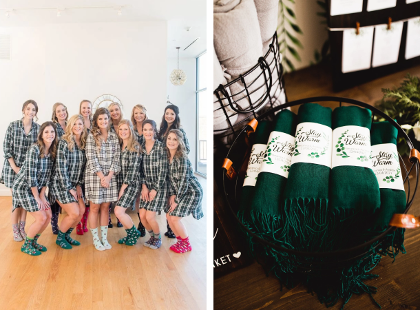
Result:
<svg viewBox="0 0 420 310">
<path fill-rule="evenodd" d="M 406 139 L 406 143 L 408 144 L 408 147 L 410 147 L 410 150 L 414 149 L 412 142 L 410 141 L 410 138 L 408 138 L 406 132 L 402 130 L 401 127 L 397 123 L 395 123 L 395 121 L 392 120 L 392 118 L 390 118 L 388 115 L 384 114 L 384 112 L 381 112 L 377 108 L 372 107 L 371 105 L 353 99 L 346 99 L 334 96 L 320 96 L 308 99 L 301 99 L 286 103 L 279 107 L 275 107 L 273 108 L 273 110 L 265 112 L 264 114 L 258 116 L 257 120 L 261 121 L 263 119 L 268 118 L 269 116 L 273 116 L 275 112 L 284 109 L 285 107 L 292 107 L 294 105 L 300 105 L 303 103 L 319 103 L 325 101 L 337 102 L 340 106 L 342 105 L 342 103 L 350 103 L 352 105 L 359 105 L 360 107 L 364 107 L 368 110 L 371 110 L 372 119 L 375 116 L 375 114 L 377 114 L 385 118 L 386 121 L 390 121 L 390 123 L 392 123 L 392 125 L 394 125 L 397 128 L 399 136 L 402 136 Z M 357 245 L 349 249 L 342 249 L 330 252 L 305 252 L 297 251 L 294 249 L 288 249 L 286 247 L 275 245 L 267 240 L 260 238 L 259 236 L 254 234 L 253 231 L 251 231 L 248 227 L 246 227 L 246 225 L 244 225 L 236 215 L 238 211 L 239 202 L 238 196 L 240 195 L 243 183 L 243 178 L 240 178 L 237 172 L 239 172 L 240 167 L 242 167 L 242 165 L 244 164 L 246 153 L 249 152 L 251 145 L 249 145 L 248 134 L 253 130 L 255 130 L 255 128 L 252 128 L 251 125 L 247 125 L 238 134 L 237 138 L 235 139 L 231 148 L 229 149 L 229 152 L 227 153 L 227 159 L 225 159 L 225 163 L 229 164 L 225 165 L 222 175 L 224 194 L 227 198 L 229 208 L 231 209 L 233 216 L 237 220 L 238 225 L 243 231 L 246 232 L 246 234 L 249 234 L 249 236 L 251 236 L 254 240 L 258 241 L 258 243 L 260 243 L 260 245 L 262 245 L 263 247 L 275 249 L 278 253 L 285 254 L 285 256 L 287 256 L 286 263 L 295 267 L 296 272 L 301 273 L 330 272 L 342 270 L 343 268 L 353 265 L 357 261 L 365 260 L 366 258 L 372 258 L 372 256 L 375 256 L 375 254 L 380 252 L 378 251 L 378 249 L 380 249 L 381 247 L 381 242 L 388 234 L 390 234 L 393 230 L 396 229 L 395 227 L 388 227 L 388 229 L 386 229 L 386 231 L 384 231 L 382 234 L 375 238 L 372 238 L 372 240 L 369 240 L 368 242 L 364 242 L 361 245 Z M 407 205 L 406 211 L 404 212 L 406 214 L 407 211 L 410 209 L 414 200 L 414 195 L 417 192 L 417 185 L 419 182 L 419 161 L 414 156 L 410 156 L 410 163 L 412 163 L 412 165 L 410 169 L 407 169 L 405 163 L 402 161 L 401 155 L 399 155 L 399 158 L 403 163 L 403 169 L 401 170 L 403 170 L 406 173 L 403 179 L 403 183 L 405 184 L 406 182 L 408 182 L 408 192 L 406 193 Z M 415 168 L 416 173 L 416 185 L 414 188 L 414 192 L 410 192 L 410 179 L 408 178 L 408 175 L 412 171 L 413 167 Z"/>
</svg>

